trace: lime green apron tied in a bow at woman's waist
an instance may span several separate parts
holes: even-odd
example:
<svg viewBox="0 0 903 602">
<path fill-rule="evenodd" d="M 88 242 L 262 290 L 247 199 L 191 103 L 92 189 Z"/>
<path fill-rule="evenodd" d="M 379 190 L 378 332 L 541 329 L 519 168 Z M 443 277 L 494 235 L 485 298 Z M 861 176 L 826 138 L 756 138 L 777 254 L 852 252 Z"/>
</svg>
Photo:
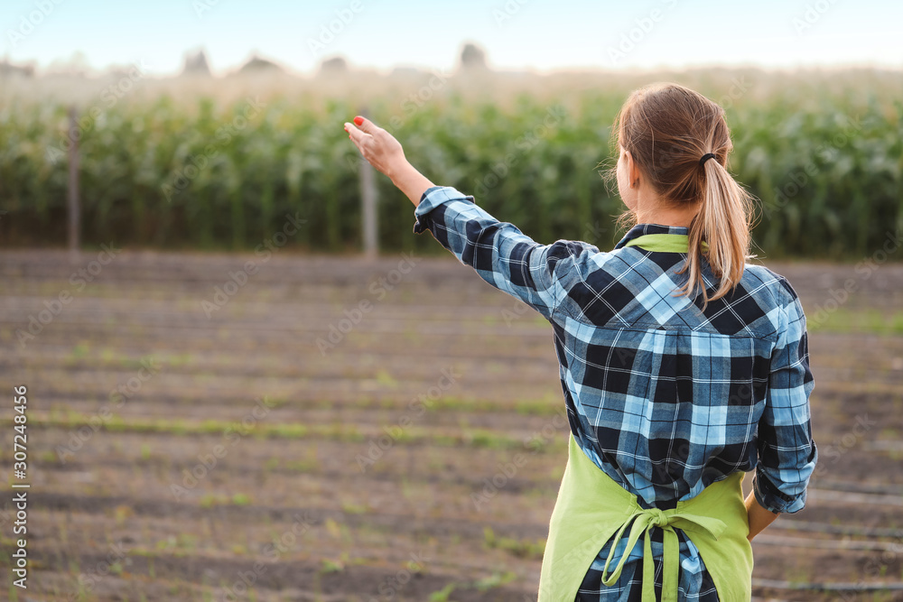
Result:
<svg viewBox="0 0 903 602">
<path fill-rule="evenodd" d="M 539 602 L 573 602 L 592 560 L 615 535 L 616 542 L 629 528 L 627 549 L 616 566 L 611 553 L 602 582 L 614 585 L 624 562 L 644 534 L 643 602 L 655 602 L 650 532 L 665 531 L 662 602 L 677 600 L 679 547 L 676 529 L 682 529 L 699 550 L 712 576 L 718 597 L 742 602 L 752 595 L 752 546 L 747 540 L 749 519 L 740 484 L 744 473 L 735 472 L 712 483 L 693 498 L 677 502 L 670 510 L 643 509 L 635 495 L 597 467 L 570 437 L 567 468 L 549 522 Z"/>
</svg>

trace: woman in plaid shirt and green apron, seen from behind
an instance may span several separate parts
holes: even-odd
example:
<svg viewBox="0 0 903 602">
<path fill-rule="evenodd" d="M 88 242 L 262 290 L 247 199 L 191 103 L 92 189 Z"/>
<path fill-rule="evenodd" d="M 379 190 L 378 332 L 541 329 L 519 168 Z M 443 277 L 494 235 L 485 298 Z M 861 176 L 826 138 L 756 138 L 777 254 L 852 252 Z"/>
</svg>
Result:
<svg viewBox="0 0 903 602">
<path fill-rule="evenodd" d="M 636 225 L 610 252 L 538 245 L 355 125 L 414 203 L 414 232 L 554 328 L 571 435 L 539 599 L 749 600 L 749 542 L 805 505 L 813 379 L 796 293 L 746 263 L 750 197 L 725 169 L 721 107 L 675 84 L 628 98 L 613 175 Z"/>
</svg>

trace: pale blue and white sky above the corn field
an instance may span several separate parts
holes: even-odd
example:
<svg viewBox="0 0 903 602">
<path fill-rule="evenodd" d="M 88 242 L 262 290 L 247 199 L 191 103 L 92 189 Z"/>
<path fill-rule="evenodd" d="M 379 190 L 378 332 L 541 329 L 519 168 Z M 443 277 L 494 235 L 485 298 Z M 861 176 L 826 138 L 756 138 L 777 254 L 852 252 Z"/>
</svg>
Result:
<svg viewBox="0 0 903 602">
<path fill-rule="evenodd" d="M 252 53 L 300 73 L 354 67 L 453 69 L 464 42 L 506 70 L 903 69 L 903 3 L 886 0 L 4 0 L 0 58 L 38 69 L 139 62 L 172 75 L 202 48 L 214 73 Z"/>
</svg>

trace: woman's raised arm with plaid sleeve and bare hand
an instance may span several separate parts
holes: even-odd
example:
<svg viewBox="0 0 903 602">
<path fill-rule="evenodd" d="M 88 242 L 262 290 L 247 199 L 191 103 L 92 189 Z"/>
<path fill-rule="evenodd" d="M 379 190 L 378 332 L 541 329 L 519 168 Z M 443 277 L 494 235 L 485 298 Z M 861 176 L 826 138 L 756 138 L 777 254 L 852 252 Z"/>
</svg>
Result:
<svg viewBox="0 0 903 602">
<path fill-rule="evenodd" d="M 500 222 L 479 208 L 473 197 L 434 186 L 407 162 L 392 134 L 362 117 L 357 117 L 355 124 L 359 129 L 351 124 L 345 124 L 345 129 L 360 153 L 414 203 L 414 232 L 428 229 L 480 278 L 551 318 L 557 299 L 554 272 L 559 262 L 599 249 L 576 241 L 535 243 L 513 224 Z"/>
</svg>

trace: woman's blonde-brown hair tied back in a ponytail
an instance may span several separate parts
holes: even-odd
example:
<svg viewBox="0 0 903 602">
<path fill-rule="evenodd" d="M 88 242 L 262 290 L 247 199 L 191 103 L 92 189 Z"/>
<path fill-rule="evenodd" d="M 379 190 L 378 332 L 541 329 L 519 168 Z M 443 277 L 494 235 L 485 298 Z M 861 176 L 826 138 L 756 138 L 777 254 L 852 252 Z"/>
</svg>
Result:
<svg viewBox="0 0 903 602">
<path fill-rule="evenodd" d="M 679 272 L 689 276 L 678 293 L 692 296 L 698 285 L 704 308 L 731 292 L 753 256 L 749 229 L 754 199 L 725 167 L 733 144 L 724 109 L 684 86 L 652 84 L 628 97 L 613 133 L 615 152 L 628 151 L 662 199 L 678 206 L 699 204 L 689 228 L 688 261 Z M 701 166 L 706 153 L 714 157 Z M 630 220 L 636 216 L 628 211 L 619 221 Z M 703 282 L 703 258 L 719 279 L 712 296 Z"/>
</svg>

